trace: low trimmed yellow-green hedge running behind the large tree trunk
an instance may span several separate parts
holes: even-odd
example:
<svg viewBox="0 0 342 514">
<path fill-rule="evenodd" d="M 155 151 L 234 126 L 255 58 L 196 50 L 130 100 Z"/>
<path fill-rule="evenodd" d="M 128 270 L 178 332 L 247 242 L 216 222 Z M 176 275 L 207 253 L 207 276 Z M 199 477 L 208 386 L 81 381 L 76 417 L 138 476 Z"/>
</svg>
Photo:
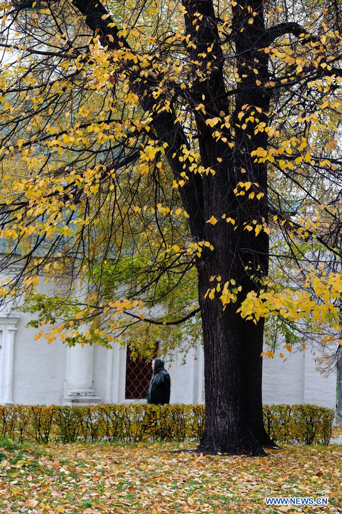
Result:
<svg viewBox="0 0 342 514">
<path fill-rule="evenodd" d="M 59 441 L 200 440 L 204 405 L 0 406 L 0 437 Z M 277 443 L 328 445 L 335 412 L 316 405 L 263 407 L 265 428 Z"/>
</svg>

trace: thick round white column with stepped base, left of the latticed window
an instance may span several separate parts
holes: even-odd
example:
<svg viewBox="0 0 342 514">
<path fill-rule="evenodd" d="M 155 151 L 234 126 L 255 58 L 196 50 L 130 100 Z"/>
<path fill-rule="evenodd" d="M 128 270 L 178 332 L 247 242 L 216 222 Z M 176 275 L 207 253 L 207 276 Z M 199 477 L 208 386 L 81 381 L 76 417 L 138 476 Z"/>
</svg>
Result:
<svg viewBox="0 0 342 514">
<path fill-rule="evenodd" d="M 67 348 L 63 405 L 99 403 L 93 385 L 94 346 L 80 344 Z"/>
</svg>

